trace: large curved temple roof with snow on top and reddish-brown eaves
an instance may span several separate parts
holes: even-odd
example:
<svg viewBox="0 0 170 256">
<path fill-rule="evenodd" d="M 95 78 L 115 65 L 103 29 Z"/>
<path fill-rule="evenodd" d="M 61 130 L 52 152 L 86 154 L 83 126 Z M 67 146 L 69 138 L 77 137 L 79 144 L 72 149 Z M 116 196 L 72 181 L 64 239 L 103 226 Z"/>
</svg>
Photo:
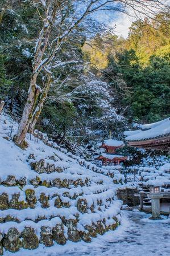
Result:
<svg viewBox="0 0 170 256">
<path fill-rule="evenodd" d="M 128 145 L 170 151 L 170 117 L 156 123 L 139 125 L 139 128 L 124 132 Z"/>
</svg>

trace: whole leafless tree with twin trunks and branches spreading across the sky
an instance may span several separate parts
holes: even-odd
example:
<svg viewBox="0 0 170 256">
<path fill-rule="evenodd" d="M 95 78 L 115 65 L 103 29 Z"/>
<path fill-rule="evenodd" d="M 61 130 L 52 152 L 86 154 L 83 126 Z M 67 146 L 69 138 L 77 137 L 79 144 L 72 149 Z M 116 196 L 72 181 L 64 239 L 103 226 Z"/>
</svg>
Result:
<svg viewBox="0 0 170 256">
<path fill-rule="evenodd" d="M 30 88 L 26 105 L 24 106 L 22 119 L 18 132 L 14 136 L 16 145 L 26 147 L 26 133 L 31 125 L 31 131 L 42 111 L 52 82 L 52 70 L 55 69 L 55 58 L 74 30 L 80 26 L 87 17 L 91 17 L 97 11 L 113 11 L 128 13 L 128 8 L 138 11 L 147 17 L 161 8 L 160 1 L 138 0 L 30 0 L 36 7 L 39 17 L 42 19 L 42 30 L 36 42 L 34 63 Z M 55 30 L 55 36 L 53 31 Z M 45 72 L 43 91 L 37 85 L 38 76 Z M 42 92 L 39 107 L 36 104 L 39 94 Z M 35 111 L 36 108 L 36 111 Z M 32 123 L 32 124 L 31 124 Z"/>
</svg>

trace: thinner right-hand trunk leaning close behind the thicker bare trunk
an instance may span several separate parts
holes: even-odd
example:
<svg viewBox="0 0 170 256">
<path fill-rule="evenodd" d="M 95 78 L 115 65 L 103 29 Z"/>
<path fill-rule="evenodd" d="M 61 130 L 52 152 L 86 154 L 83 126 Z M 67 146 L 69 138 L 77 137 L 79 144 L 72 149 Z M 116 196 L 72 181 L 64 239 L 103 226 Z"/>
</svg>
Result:
<svg viewBox="0 0 170 256">
<path fill-rule="evenodd" d="M 34 129 L 35 129 L 35 124 L 39 119 L 40 113 L 42 112 L 43 106 L 44 106 L 44 102 L 47 99 L 47 94 L 49 91 L 49 87 L 51 86 L 51 82 L 52 82 L 52 78 L 51 75 L 47 75 L 47 82 L 44 84 L 44 88 L 42 91 L 42 94 L 40 96 L 40 100 L 38 105 L 36 106 L 35 112 L 32 116 L 32 121 L 30 123 L 30 127 L 29 127 L 29 132 L 34 134 Z"/>
</svg>

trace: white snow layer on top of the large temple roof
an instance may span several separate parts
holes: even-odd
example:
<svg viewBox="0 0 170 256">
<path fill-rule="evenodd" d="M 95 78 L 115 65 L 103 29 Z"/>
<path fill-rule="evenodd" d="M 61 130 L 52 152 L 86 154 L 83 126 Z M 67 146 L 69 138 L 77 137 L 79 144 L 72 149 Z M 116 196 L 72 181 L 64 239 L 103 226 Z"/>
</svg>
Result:
<svg viewBox="0 0 170 256">
<path fill-rule="evenodd" d="M 148 124 L 149 127 L 149 124 Z M 139 133 L 136 133 L 135 135 L 131 135 L 126 137 L 127 141 L 133 141 L 133 140 L 146 140 L 146 139 L 152 139 L 155 137 L 168 135 L 170 133 L 170 119 L 164 119 L 160 122 L 151 124 L 150 129 L 147 131 L 141 131 Z"/>
</svg>

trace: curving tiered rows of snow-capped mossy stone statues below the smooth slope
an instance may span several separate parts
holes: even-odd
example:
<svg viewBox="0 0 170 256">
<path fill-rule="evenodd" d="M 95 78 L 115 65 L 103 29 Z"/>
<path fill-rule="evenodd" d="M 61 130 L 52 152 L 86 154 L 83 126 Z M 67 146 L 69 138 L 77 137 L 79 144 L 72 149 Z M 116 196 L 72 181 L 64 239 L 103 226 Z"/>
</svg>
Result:
<svg viewBox="0 0 170 256">
<path fill-rule="evenodd" d="M 55 156 L 36 157 L 32 153 L 27 159 L 30 177 L 0 174 L 0 255 L 40 243 L 90 242 L 117 228 L 122 201 L 114 200 L 111 178 L 71 159 L 60 167 Z M 70 166 L 75 169 L 69 171 Z"/>
</svg>

